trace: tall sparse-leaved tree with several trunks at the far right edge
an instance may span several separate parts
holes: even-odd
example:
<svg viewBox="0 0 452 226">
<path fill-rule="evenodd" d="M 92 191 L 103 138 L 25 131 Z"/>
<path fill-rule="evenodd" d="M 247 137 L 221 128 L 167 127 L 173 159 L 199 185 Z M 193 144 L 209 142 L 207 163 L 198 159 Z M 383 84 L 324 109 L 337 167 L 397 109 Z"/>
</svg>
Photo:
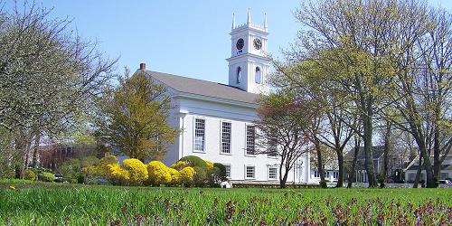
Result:
<svg viewBox="0 0 452 226">
<path fill-rule="evenodd" d="M 396 91 L 388 93 L 386 104 L 395 110 L 384 116 L 414 138 L 427 186 L 435 187 L 434 176 L 440 175 L 441 164 L 452 148 L 452 14 L 434 8 L 427 13 L 425 6 L 413 1 L 400 10 L 404 14 L 400 27 L 406 29 L 399 34 L 399 43 L 406 47 L 391 56 Z M 420 172 L 419 168 L 415 187 Z"/>
</svg>

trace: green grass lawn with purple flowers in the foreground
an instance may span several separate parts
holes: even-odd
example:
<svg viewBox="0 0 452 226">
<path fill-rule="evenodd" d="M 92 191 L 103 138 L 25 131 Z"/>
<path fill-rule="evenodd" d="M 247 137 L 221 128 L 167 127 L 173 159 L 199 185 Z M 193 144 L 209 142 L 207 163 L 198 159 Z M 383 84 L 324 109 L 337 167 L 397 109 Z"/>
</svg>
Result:
<svg viewBox="0 0 452 226">
<path fill-rule="evenodd" d="M 452 225 L 452 189 L 185 189 L 0 183 L 0 225 L 413 225 L 416 221 Z"/>
</svg>

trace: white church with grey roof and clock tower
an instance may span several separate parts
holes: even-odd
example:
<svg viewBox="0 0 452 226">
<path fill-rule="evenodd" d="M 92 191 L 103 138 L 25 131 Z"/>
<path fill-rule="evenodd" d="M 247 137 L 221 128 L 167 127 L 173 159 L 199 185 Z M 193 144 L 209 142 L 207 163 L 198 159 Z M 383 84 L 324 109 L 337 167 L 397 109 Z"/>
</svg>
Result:
<svg viewBox="0 0 452 226">
<path fill-rule="evenodd" d="M 246 24 L 232 20 L 229 84 L 195 80 L 156 71 L 140 71 L 164 84 L 176 108 L 169 123 L 183 131 L 169 147 L 165 164 L 172 165 L 186 155 L 196 155 L 226 165 L 231 181 L 275 181 L 279 160 L 254 155 L 256 146 L 253 121 L 259 92 L 268 92 L 268 26 L 252 24 L 250 12 Z M 299 159 L 289 173 L 288 183 L 309 182 L 309 155 Z"/>
</svg>

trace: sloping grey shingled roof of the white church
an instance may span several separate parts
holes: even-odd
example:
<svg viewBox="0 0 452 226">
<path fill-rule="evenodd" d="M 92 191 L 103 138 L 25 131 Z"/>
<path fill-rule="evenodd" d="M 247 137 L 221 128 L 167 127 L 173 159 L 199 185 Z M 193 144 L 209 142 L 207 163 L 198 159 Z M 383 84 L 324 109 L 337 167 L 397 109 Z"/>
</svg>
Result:
<svg viewBox="0 0 452 226">
<path fill-rule="evenodd" d="M 258 94 L 250 93 L 225 84 L 207 80 L 196 80 L 157 71 L 146 71 L 146 76 L 159 80 L 166 86 L 179 92 L 201 95 L 214 99 L 226 99 L 249 104 L 258 104 Z"/>
</svg>

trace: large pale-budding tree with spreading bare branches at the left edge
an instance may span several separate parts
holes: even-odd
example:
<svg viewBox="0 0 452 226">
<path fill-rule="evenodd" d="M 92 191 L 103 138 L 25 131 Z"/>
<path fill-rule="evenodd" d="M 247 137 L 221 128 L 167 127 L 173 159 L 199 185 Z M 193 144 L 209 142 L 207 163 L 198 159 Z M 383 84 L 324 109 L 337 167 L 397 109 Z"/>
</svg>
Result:
<svg viewBox="0 0 452 226">
<path fill-rule="evenodd" d="M 116 63 L 50 13 L 26 2 L 0 12 L 0 127 L 14 135 L 20 159 L 12 162 L 22 169 L 31 156 L 37 165 L 41 137 L 61 136 L 85 121 Z"/>
</svg>

